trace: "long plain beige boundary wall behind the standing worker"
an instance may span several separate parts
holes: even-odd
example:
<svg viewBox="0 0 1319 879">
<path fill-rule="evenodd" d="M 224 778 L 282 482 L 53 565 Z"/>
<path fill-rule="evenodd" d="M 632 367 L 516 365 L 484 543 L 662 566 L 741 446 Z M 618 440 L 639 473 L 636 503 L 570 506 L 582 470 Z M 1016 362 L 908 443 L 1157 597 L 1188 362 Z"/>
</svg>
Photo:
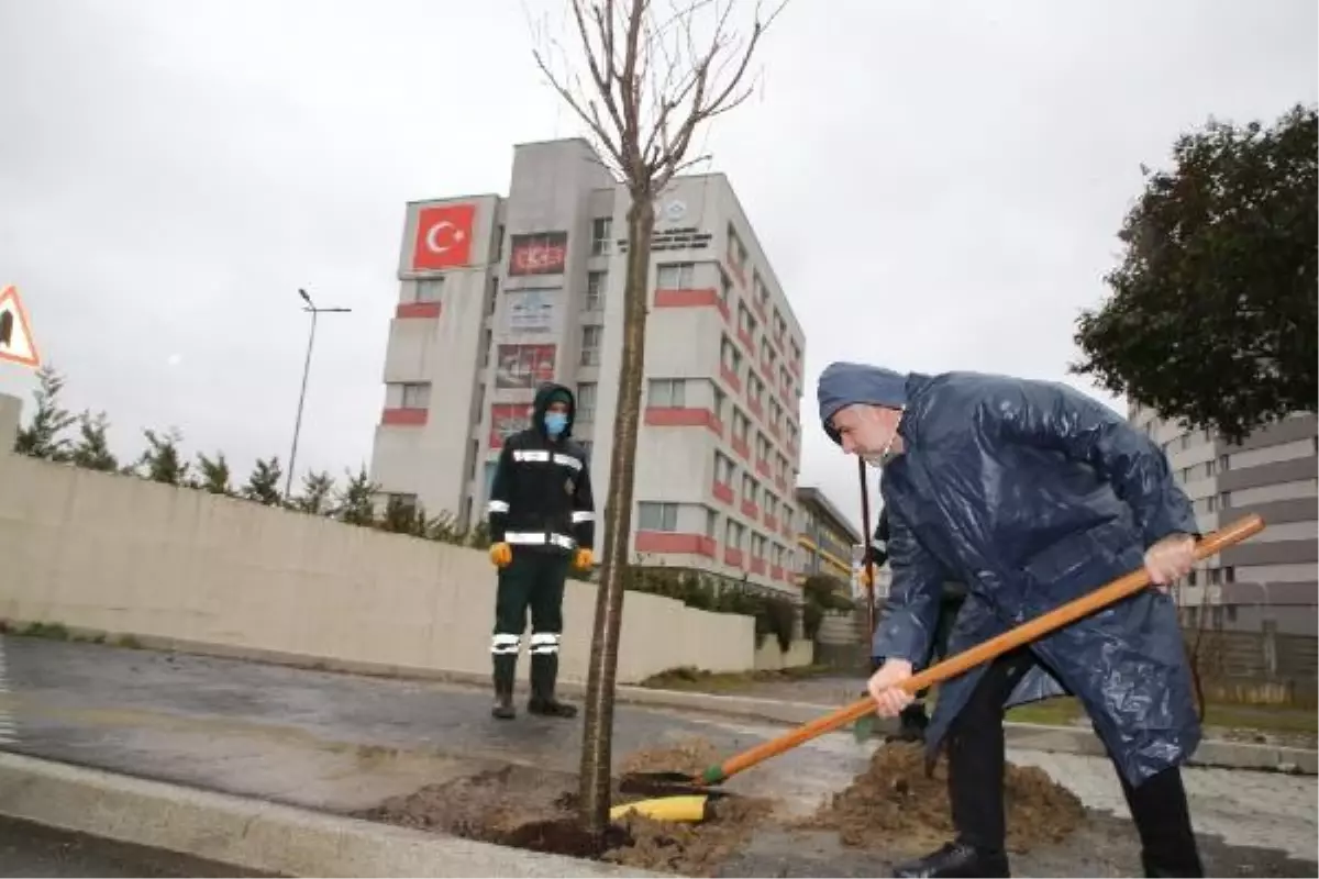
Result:
<svg viewBox="0 0 1319 879">
<path fill-rule="evenodd" d="M 340 668 L 489 672 L 495 569 L 476 550 L 0 453 L 0 559 L 4 619 Z M 586 677 L 595 600 L 568 581 L 565 680 Z M 754 621 L 629 592 L 619 681 L 679 666 L 756 668 Z"/>
</svg>

